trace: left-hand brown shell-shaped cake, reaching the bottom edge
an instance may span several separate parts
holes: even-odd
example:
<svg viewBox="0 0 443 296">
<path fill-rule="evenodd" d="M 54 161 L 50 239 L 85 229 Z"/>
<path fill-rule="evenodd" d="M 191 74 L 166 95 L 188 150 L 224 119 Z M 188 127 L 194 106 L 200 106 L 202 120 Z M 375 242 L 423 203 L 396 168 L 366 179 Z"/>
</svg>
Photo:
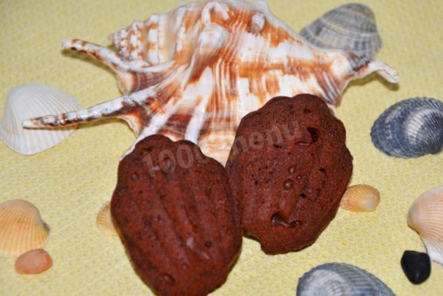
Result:
<svg viewBox="0 0 443 296">
<path fill-rule="evenodd" d="M 111 215 L 141 278 L 159 295 L 206 295 L 242 245 L 219 162 L 190 141 L 146 137 L 120 162 Z"/>
</svg>

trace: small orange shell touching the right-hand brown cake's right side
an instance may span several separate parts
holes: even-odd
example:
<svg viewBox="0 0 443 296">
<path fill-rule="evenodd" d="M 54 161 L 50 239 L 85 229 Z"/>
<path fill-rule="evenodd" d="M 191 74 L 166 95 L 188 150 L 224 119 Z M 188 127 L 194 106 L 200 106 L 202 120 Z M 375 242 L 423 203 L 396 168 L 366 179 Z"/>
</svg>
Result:
<svg viewBox="0 0 443 296">
<path fill-rule="evenodd" d="M 374 211 L 380 202 L 380 192 L 370 185 L 359 184 L 346 189 L 340 207 L 347 211 Z"/>
</svg>

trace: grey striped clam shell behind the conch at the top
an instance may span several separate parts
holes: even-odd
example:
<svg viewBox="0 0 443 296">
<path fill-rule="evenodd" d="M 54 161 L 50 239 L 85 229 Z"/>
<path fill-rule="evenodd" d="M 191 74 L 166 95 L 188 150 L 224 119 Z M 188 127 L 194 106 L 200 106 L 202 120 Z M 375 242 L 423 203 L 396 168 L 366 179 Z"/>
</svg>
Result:
<svg viewBox="0 0 443 296">
<path fill-rule="evenodd" d="M 375 55 L 381 48 L 374 12 L 361 3 L 348 3 L 329 10 L 300 32 L 323 49 L 343 49 Z"/>
</svg>

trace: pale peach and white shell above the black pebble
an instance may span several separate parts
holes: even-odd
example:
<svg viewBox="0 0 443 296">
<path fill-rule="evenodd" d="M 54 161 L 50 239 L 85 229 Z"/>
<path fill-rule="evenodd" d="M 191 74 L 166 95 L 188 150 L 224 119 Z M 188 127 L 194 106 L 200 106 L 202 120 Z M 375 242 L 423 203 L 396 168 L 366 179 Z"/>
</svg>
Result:
<svg viewBox="0 0 443 296">
<path fill-rule="evenodd" d="M 410 205 L 408 225 L 422 237 L 431 259 L 443 265 L 443 186 L 424 192 Z"/>
</svg>

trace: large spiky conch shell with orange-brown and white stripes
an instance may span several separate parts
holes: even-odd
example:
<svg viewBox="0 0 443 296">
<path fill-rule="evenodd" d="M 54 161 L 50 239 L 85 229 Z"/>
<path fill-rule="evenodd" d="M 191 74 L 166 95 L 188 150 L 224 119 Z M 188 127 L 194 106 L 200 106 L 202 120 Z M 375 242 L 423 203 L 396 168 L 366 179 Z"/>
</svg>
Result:
<svg viewBox="0 0 443 296">
<path fill-rule="evenodd" d="M 123 96 L 24 126 L 117 117 L 129 123 L 136 143 L 150 134 L 188 139 L 225 163 L 240 119 L 274 96 L 309 93 L 336 105 L 350 80 L 377 71 L 398 81 L 397 71 L 368 55 L 310 45 L 263 1 L 182 3 L 134 21 L 111 40 L 118 52 L 75 39 L 62 45 L 113 69 Z"/>
</svg>

